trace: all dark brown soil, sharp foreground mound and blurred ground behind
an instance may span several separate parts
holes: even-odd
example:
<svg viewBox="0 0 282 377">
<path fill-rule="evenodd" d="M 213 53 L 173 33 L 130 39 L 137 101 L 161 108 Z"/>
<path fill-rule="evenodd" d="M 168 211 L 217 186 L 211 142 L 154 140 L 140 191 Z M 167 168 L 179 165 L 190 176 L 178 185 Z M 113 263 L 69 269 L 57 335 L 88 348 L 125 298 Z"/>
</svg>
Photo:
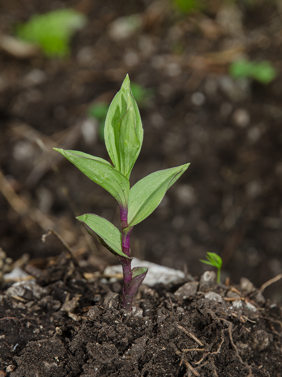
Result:
<svg viewBox="0 0 282 377">
<path fill-rule="evenodd" d="M 242 276 L 260 287 L 282 273 L 281 4 L 238 0 L 230 11 L 226 3 L 207 0 L 183 15 L 169 1 L 0 1 L 8 35 L 32 14 L 64 6 L 88 18 L 65 60 L 0 50 L 0 377 L 282 375 L 282 282 L 265 289 L 266 302 L 239 285 Z M 113 21 L 131 14 L 140 29 L 110 37 Z M 270 60 L 276 79 L 233 80 L 236 54 Z M 93 212 L 118 226 L 116 202 L 52 147 L 108 159 L 88 109 L 111 101 L 126 73 L 153 90 L 141 107 L 144 142 L 131 184 L 191 163 L 133 229 L 132 254 L 201 276 L 199 259 L 218 253 L 222 281 L 229 276 L 238 291 L 208 289 L 239 295 L 237 307 L 202 290 L 184 299 L 175 295 L 179 282 L 142 287 L 135 314 L 124 313 L 121 281 L 103 280 L 116 259 L 75 221 Z M 54 236 L 41 242 L 48 228 L 72 257 Z M 36 285 L 9 288 L 2 275 L 16 266 Z"/>
</svg>

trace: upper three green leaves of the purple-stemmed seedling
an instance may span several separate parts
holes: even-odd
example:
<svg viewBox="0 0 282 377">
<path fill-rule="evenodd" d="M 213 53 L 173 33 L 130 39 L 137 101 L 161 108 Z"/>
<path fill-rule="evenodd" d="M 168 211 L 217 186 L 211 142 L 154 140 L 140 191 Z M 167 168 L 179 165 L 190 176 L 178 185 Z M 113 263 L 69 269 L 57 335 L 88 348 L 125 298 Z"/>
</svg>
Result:
<svg viewBox="0 0 282 377">
<path fill-rule="evenodd" d="M 104 138 L 113 165 L 84 152 L 55 149 L 107 190 L 118 202 L 121 215 L 125 215 L 123 226 L 133 227 L 158 207 L 189 164 L 151 173 L 130 188 L 129 177 L 142 146 L 143 127 L 128 75 L 110 104 Z"/>
</svg>

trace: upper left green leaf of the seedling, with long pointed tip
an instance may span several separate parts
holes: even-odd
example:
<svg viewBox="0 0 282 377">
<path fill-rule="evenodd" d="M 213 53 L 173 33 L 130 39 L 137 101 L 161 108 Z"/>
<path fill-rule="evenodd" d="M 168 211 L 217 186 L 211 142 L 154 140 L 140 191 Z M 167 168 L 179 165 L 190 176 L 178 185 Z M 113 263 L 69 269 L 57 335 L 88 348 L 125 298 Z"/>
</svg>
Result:
<svg viewBox="0 0 282 377">
<path fill-rule="evenodd" d="M 77 150 L 54 148 L 71 161 L 88 178 L 107 190 L 124 208 L 127 208 L 129 180 L 108 161 Z"/>
</svg>

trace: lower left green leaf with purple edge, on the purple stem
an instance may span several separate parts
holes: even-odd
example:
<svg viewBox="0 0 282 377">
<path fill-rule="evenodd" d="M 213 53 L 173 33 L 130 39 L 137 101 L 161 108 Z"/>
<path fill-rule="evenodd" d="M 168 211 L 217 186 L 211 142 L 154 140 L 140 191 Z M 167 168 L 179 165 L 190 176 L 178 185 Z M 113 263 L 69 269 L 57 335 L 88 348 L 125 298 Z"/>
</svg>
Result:
<svg viewBox="0 0 282 377">
<path fill-rule="evenodd" d="M 111 222 L 94 213 L 86 213 L 77 217 L 91 236 L 122 260 L 131 259 L 121 250 L 121 232 Z"/>
</svg>

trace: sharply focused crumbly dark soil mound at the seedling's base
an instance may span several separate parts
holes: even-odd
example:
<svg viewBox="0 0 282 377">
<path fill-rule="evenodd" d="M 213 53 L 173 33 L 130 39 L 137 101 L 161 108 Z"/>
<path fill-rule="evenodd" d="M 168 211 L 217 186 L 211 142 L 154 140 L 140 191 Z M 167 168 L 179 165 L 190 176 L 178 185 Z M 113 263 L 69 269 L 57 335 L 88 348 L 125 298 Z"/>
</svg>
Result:
<svg viewBox="0 0 282 377">
<path fill-rule="evenodd" d="M 84 279 L 69 253 L 47 268 L 45 279 L 58 271 L 62 280 L 44 287 L 38 284 L 42 277 L 15 283 L 1 296 L 1 375 L 282 374 L 281 307 L 263 303 L 246 279 L 241 292 L 222 284 L 204 287 L 202 280 L 199 287 L 196 281 L 142 285 L 129 312 L 120 309 L 120 296 L 112 291 L 121 282 Z"/>
</svg>

